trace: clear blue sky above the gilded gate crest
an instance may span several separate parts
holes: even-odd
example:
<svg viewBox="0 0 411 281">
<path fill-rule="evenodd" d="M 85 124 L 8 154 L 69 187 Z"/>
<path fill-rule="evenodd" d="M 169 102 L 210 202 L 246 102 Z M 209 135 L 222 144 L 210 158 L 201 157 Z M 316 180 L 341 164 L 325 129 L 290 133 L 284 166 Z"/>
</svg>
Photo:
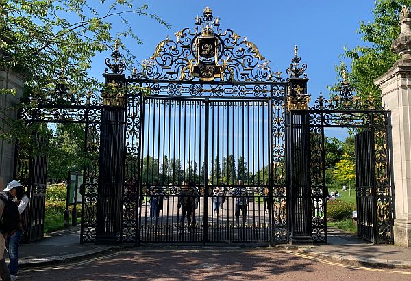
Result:
<svg viewBox="0 0 411 281">
<path fill-rule="evenodd" d="M 142 2 L 144 3 L 144 2 Z M 213 15 L 221 18 L 221 29 L 233 29 L 240 36 L 247 36 L 260 49 L 260 53 L 271 61 L 273 70 L 283 72 L 293 56 L 294 45 L 299 48 L 301 62 L 308 64 L 306 71 L 310 81 L 308 92 L 312 100 L 323 92 L 328 94 L 327 85 L 336 81 L 334 66 L 339 63 L 343 47 L 364 44 L 356 32 L 360 21 L 372 21 L 374 1 L 146 1 L 149 12 L 157 14 L 171 25 L 171 29 L 150 18 L 132 17 L 134 31 L 144 42 L 136 44 L 126 40 L 138 61 L 153 54 L 155 46 L 167 35 L 184 27 L 194 27 L 195 17 L 203 8 L 210 6 Z M 113 22 L 114 29 L 118 23 Z M 92 75 L 101 77 L 105 69 L 103 59 L 107 52 L 93 61 Z M 129 72 L 128 72 L 129 73 Z M 126 74 L 128 75 L 126 72 Z M 344 131 L 329 131 L 327 135 L 345 137 Z"/>
</svg>

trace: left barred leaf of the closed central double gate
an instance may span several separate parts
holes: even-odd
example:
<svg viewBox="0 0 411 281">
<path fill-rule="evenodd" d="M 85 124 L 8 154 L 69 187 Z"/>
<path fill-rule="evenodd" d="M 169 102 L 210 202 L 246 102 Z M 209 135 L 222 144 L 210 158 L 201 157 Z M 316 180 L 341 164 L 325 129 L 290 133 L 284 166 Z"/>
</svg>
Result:
<svg viewBox="0 0 411 281">
<path fill-rule="evenodd" d="M 204 101 L 151 97 L 142 116 L 139 240 L 203 241 Z"/>
</svg>

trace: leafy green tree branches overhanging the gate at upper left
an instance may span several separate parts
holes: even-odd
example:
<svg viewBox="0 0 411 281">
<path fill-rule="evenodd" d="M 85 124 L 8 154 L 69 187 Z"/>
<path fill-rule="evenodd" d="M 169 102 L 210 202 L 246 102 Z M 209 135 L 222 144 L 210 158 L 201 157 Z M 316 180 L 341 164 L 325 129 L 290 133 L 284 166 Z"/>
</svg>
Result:
<svg viewBox="0 0 411 281">
<path fill-rule="evenodd" d="M 55 81 L 62 68 L 65 86 L 75 98 L 86 96 L 88 90 L 99 90 L 98 79 L 90 77 L 88 70 L 92 58 L 112 49 L 115 40 L 123 48 L 127 67 L 136 65 L 136 58 L 123 44 L 125 38 L 141 43 L 129 23 L 131 18 L 148 16 L 166 25 L 149 12 L 148 5 L 136 6 L 129 0 L 98 2 L 0 1 L 0 68 L 25 76 L 25 98 L 19 106 L 35 107 L 36 98 L 54 96 Z M 112 23 L 116 22 L 121 23 L 116 25 L 118 30 L 113 28 Z M 23 124 L 14 122 L 10 126 L 10 120 L 3 121 L 8 124 L 1 128 L 3 137 L 30 135 Z"/>
</svg>

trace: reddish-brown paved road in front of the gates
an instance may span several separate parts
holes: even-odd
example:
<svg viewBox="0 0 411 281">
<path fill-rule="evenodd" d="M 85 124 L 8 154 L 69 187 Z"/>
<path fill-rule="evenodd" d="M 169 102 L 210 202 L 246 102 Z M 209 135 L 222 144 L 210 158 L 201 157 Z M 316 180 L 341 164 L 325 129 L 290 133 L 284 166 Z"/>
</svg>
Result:
<svg viewBox="0 0 411 281">
<path fill-rule="evenodd" d="M 27 269 L 18 280 L 411 280 L 411 271 L 341 265 L 282 250 L 139 249 Z"/>
</svg>

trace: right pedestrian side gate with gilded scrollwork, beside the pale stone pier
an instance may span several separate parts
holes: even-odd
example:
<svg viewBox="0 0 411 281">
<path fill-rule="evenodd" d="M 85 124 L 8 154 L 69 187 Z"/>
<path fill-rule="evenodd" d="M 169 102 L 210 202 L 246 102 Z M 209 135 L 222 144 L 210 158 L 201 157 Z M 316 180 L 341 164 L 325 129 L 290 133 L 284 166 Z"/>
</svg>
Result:
<svg viewBox="0 0 411 281">
<path fill-rule="evenodd" d="M 393 243 L 393 183 L 390 178 L 388 110 L 372 96 L 362 101 L 353 96 L 344 79 L 340 94 L 330 100 L 320 96 L 310 116 L 310 185 L 314 242 L 327 242 L 324 129 L 345 127 L 362 131 L 356 137 L 358 235 L 374 243 Z"/>
</svg>

